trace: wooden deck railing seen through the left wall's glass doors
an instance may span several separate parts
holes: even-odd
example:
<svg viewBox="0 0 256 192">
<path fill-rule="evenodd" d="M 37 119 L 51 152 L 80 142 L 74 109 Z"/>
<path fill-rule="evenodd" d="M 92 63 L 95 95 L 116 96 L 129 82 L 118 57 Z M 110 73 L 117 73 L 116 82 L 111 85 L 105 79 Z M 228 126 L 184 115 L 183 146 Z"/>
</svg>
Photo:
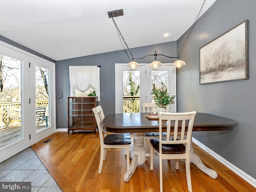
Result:
<svg viewBox="0 0 256 192">
<path fill-rule="evenodd" d="M 46 107 L 46 114 L 48 114 L 48 101 L 36 101 L 36 107 Z M 6 108 L 10 114 L 6 114 Z M 0 103 L 0 126 L 4 126 L 3 118 L 6 116 L 16 117 L 20 115 L 21 103 L 20 102 L 4 102 Z"/>
</svg>

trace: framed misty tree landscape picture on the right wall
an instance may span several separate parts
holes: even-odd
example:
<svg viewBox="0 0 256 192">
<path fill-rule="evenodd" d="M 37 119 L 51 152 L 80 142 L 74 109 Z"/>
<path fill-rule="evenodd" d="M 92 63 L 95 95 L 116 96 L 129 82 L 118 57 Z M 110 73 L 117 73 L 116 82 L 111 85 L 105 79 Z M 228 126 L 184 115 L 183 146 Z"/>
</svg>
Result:
<svg viewBox="0 0 256 192">
<path fill-rule="evenodd" d="M 199 48 L 199 84 L 249 79 L 249 20 Z"/>
</svg>

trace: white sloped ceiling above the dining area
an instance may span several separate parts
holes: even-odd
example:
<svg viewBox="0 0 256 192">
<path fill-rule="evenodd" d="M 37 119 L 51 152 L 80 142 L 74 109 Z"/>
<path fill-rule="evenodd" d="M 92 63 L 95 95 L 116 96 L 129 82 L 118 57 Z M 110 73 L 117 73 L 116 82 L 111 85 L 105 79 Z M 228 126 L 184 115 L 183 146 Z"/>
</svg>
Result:
<svg viewBox="0 0 256 192">
<path fill-rule="evenodd" d="M 204 0 L 0 0 L 0 35 L 54 60 L 176 41 Z M 201 15 L 215 2 L 206 0 Z M 165 33 L 170 33 L 164 37 Z M 153 53 L 152 53 L 153 54 Z M 134 54 L 134 57 L 136 55 Z"/>
</svg>

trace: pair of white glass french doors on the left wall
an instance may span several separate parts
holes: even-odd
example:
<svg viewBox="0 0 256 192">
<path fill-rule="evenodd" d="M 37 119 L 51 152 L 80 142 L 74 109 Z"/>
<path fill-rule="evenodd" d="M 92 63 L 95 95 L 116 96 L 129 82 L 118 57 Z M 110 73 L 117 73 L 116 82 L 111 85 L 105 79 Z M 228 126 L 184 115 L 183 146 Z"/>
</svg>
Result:
<svg viewBox="0 0 256 192">
<path fill-rule="evenodd" d="M 55 66 L 4 42 L 0 42 L 0 59 L 2 162 L 54 133 Z M 38 91 L 45 89 L 44 85 L 48 90 Z M 38 92 L 45 97 L 38 100 Z M 44 120 L 36 118 L 37 106 L 45 107 Z"/>
</svg>

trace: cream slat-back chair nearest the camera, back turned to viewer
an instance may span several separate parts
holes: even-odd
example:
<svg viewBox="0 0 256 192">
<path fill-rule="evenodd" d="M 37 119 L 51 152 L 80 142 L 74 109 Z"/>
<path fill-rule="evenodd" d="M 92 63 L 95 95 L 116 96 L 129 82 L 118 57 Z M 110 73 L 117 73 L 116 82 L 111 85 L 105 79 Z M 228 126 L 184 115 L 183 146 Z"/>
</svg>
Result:
<svg viewBox="0 0 256 192">
<path fill-rule="evenodd" d="M 176 170 L 179 168 L 179 159 L 184 159 L 186 162 L 186 177 L 188 190 L 192 192 L 191 176 L 190 176 L 190 144 L 192 137 L 192 129 L 196 112 L 182 113 L 159 113 L 159 139 L 150 140 L 150 170 L 153 170 L 154 151 L 159 156 L 160 169 L 160 192 L 163 191 L 163 174 L 162 160 L 175 159 Z M 166 139 L 162 139 L 162 123 L 167 122 Z M 174 125 L 174 128 L 171 127 Z M 186 128 L 187 126 L 187 128 Z M 173 133 L 173 134 L 171 134 Z M 173 136 L 170 136 L 173 135 Z"/>
</svg>

